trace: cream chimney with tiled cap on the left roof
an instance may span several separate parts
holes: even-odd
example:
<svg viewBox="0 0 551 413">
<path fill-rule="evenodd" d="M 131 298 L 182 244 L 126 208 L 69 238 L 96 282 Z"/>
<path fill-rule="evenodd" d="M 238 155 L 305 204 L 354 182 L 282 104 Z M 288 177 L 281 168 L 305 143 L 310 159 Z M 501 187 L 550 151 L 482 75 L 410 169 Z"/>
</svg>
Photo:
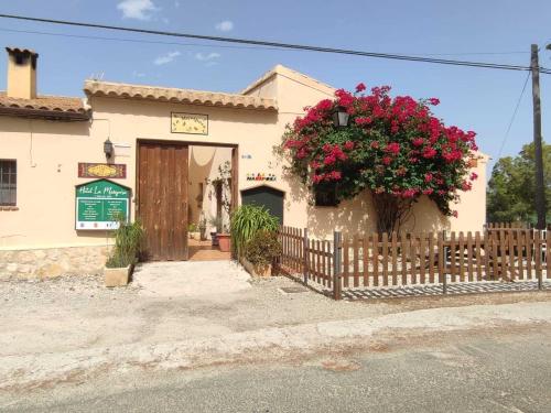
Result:
<svg viewBox="0 0 551 413">
<path fill-rule="evenodd" d="M 36 61 L 39 54 L 28 48 L 6 47 L 8 52 L 8 96 L 36 98 Z"/>
</svg>

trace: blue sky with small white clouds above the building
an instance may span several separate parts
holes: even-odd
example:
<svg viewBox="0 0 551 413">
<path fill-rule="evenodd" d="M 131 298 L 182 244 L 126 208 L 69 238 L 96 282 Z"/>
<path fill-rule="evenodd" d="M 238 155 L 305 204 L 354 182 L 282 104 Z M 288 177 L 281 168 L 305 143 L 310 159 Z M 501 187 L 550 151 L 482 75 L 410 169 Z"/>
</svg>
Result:
<svg viewBox="0 0 551 413">
<path fill-rule="evenodd" d="M 551 42 L 548 0 L 2 0 L 0 12 L 521 65 L 528 65 L 530 44 L 537 43 L 542 46 L 541 65 L 551 67 L 551 51 L 543 50 Z M 2 45 L 31 47 L 40 53 L 41 94 L 82 96 L 83 81 L 93 74 L 104 74 L 105 80 L 114 81 L 238 91 L 278 63 L 335 87 L 353 88 L 359 81 L 390 85 L 393 94 L 440 98 L 436 115 L 446 123 L 476 131 L 480 149 L 493 157 L 499 155 L 527 76 L 522 72 L 252 50 L 6 19 L 0 19 L 0 40 Z M 139 42 L 144 40 L 159 43 Z M 543 138 L 551 113 L 550 76 L 541 76 Z M 6 56 L 0 61 L 0 89 L 4 88 Z M 529 83 L 501 155 L 517 153 L 531 139 Z"/>
</svg>

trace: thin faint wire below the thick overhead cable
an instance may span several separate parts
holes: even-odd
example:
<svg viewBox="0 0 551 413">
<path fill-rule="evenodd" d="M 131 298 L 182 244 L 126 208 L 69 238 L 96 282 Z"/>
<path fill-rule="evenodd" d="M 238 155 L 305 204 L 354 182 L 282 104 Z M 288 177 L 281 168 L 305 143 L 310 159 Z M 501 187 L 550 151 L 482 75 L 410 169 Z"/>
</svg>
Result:
<svg viewBox="0 0 551 413">
<path fill-rule="evenodd" d="M 162 41 L 153 41 L 153 40 L 144 40 L 144 39 L 91 36 L 91 35 L 85 35 L 85 34 L 56 33 L 56 32 L 44 32 L 44 31 L 34 31 L 34 30 L 18 30 L 18 29 L 7 29 L 7 28 L 0 28 L 0 32 L 40 34 L 40 35 L 47 35 L 47 36 L 58 36 L 58 37 L 69 37 L 69 39 L 89 39 L 89 40 L 114 41 L 114 42 L 166 44 L 166 45 L 174 45 L 174 46 L 285 51 L 282 47 L 234 46 L 234 45 L 219 45 L 219 44 L 217 45 L 217 44 L 208 44 L 208 43 L 162 42 Z M 291 51 L 291 52 L 300 52 L 300 51 Z M 469 56 L 469 55 L 512 55 L 512 54 L 530 54 L 530 52 L 511 51 L 511 52 L 468 52 L 468 53 L 413 53 L 411 55 L 412 56 Z"/>
</svg>

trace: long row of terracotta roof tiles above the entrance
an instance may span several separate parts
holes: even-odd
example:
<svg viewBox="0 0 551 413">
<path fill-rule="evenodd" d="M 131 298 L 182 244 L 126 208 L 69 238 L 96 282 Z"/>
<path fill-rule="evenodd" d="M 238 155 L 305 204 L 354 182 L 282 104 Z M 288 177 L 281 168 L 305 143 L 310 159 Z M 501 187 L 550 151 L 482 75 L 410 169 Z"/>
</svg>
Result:
<svg viewBox="0 0 551 413">
<path fill-rule="evenodd" d="M 144 85 L 86 80 L 84 91 L 88 96 L 106 96 L 126 99 L 171 101 L 188 105 L 222 106 L 260 110 L 278 110 L 274 99 L 223 94 L 192 89 L 177 89 Z"/>
</svg>

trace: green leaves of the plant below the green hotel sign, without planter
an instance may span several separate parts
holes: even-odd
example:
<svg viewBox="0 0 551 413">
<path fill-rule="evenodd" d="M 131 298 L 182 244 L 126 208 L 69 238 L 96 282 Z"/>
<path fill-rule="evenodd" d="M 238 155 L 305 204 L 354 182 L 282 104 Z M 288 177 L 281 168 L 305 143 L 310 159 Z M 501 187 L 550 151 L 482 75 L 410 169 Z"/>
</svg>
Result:
<svg viewBox="0 0 551 413">
<path fill-rule="evenodd" d="M 125 268 L 134 264 L 138 261 L 143 233 L 139 220 L 132 224 L 121 220 L 119 228 L 115 230 L 115 249 L 107 259 L 106 267 Z"/>
</svg>

